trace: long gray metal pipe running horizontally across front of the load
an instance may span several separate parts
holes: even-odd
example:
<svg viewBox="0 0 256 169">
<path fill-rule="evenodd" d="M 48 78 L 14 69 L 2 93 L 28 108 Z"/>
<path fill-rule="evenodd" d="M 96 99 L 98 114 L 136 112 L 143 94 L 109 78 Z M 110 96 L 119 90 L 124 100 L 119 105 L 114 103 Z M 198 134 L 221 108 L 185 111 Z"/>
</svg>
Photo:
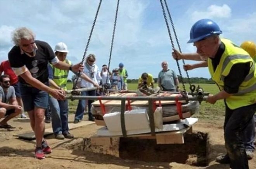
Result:
<svg viewBox="0 0 256 169">
<path fill-rule="evenodd" d="M 122 99 L 129 99 L 129 100 L 198 100 L 197 96 L 188 95 L 187 98 L 183 96 L 66 96 L 66 99 L 71 100 L 122 100 Z M 208 96 L 204 96 L 200 98 L 201 100 L 206 100 Z"/>
</svg>

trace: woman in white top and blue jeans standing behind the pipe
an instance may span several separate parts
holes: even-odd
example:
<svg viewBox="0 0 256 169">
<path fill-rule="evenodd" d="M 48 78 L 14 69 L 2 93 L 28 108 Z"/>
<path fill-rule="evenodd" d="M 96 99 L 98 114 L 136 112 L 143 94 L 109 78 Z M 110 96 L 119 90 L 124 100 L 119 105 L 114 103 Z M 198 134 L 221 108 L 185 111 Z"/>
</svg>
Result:
<svg viewBox="0 0 256 169">
<path fill-rule="evenodd" d="M 95 60 L 96 60 L 96 57 L 94 54 L 89 54 L 86 57 L 86 62 L 85 62 L 85 66 L 83 69 L 83 73 L 85 73 L 90 79 L 92 79 L 97 84 L 99 84 L 101 77 L 100 77 L 99 67 L 95 64 Z M 81 88 L 92 88 L 93 84 L 81 79 L 80 87 Z M 81 95 L 82 96 L 95 96 L 96 90 L 83 91 L 83 92 L 81 92 Z M 88 100 L 88 117 L 89 117 L 88 120 L 90 120 L 90 121 L 94 121 L 94 118 L 93 118 L 93 115 L 91 112 L 92 102 L 93 102 L 93 100 Z M 77 108 L 76 108 L 76 115 L 75 115 L 74 123 L 78 123 L 83 119 L 84 111 L 85 111 L 85 100 L 79 100 Z"/>
</svg>

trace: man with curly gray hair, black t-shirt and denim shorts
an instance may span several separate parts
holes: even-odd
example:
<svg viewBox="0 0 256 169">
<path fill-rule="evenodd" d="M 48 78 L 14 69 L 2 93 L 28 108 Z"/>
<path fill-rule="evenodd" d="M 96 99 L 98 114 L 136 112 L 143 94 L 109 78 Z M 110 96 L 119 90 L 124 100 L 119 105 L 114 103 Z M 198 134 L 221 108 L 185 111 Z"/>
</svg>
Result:
<svg viewBox="0 0 256 169">
<path fill-rule="evenodd" d="M 48 69 L 50 62 L 55 68 L 78 72 L 83 69 L 81 64 L 69 66 L 60 62 L 47 42 L 35 40 L 32 30 L 21 27 L 14 30 L 12 41 L 15 46 L 8 54 L 10 66 L 19 76 L 21 97 L 24 100 L 24 111 L 28 112 L 31 128 L 36 136 L 35 157 L 45 158 L 52 149 L 43 139 L 44 114 L 48 106 L 48 94 L 58 100 L 65 100 L 65 92 L 48 86 Z"/>
</svg>

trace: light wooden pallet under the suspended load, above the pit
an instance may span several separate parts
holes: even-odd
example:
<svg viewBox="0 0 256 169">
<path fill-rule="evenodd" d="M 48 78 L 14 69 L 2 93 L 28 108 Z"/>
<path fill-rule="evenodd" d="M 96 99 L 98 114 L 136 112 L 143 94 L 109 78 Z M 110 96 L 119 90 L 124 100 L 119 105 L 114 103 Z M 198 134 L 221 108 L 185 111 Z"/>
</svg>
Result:
<svg viewBox="0 0 256 169">
<path fill-rule="evenodd" d="M 172 132 L 161 132 L 157 133 L 155 136 L 151 134 L 137 134 L 128 135 L 127 137 L 133 139 L 156 139 L 157 144 L 184 144 L 184 134 L 192 133 L 192 126 L 188 128 L 183 128 L 182 130 L 172 131 Z M 92 145 L 112 145 L 112 140 L 120 138 L 119 136 L 92 136 Z"/>
</svg>

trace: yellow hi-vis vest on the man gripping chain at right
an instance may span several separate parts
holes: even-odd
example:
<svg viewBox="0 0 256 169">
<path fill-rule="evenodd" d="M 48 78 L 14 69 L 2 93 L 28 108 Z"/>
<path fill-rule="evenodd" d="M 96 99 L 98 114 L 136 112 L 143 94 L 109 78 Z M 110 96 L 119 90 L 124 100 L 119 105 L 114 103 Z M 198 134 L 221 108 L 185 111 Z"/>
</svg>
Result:
<svg viewBox="0 0 256 169">
<path fill-rule="evenodd" d="M 221 56 L 220 63 L 215 72 L 212 61 L 208 58 L 209 72 L 220 90 L 224 90 L 224 78 L 229 74 L 234 64 L 251 63 L 249 74 L 239 86 L 239 91 L 226 99 L 228 108 L 234 110 L 242 106 L 256 103 L 256 71 L 253 59 L 246 51 L 233 44 L 230 40 L 221 39 L 221 42 L 225 44 L 225 51 Z"/>
</svg>

